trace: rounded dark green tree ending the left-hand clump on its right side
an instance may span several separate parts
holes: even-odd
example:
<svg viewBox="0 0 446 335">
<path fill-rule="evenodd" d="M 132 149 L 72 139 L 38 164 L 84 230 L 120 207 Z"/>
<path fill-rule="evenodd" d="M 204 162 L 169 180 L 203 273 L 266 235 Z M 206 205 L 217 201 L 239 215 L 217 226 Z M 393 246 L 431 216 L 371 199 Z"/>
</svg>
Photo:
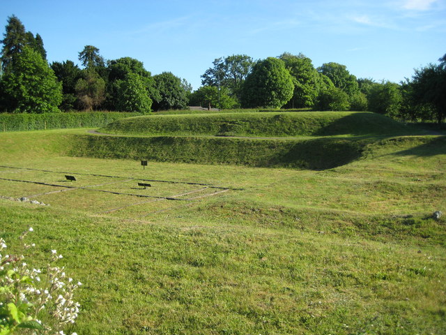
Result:
<svg viewBox="0 0 446 335">
<path fill-rule="evenodd" d="M 155 110 L 183 110 L 187 107 L 187 91 L 185 91 L 180 78 L 170 72 L 154 75 L 156 87 L 160 92 L 161 100 L 153 103 Z"/>
</svg>

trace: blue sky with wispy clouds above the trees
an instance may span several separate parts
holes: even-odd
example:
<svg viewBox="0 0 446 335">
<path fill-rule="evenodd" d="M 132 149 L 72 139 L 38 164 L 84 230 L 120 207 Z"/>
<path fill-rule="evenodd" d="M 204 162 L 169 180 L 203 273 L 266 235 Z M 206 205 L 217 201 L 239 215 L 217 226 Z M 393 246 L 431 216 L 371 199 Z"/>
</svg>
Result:
<svg viewBox="0 0 446 335">
<path fill-rule="evenodd" d="M 3 33 L 13 14 L 42 36 L 50 62 L 79 64 L 94 45 L 105 59 L 138 59 L 194 89 L 215 58 L 231 54 L 302 52 L 315 67 L 334 61 L 393 82 L 446 54 L 446 0 L 3 0 Z"/>
</svg>

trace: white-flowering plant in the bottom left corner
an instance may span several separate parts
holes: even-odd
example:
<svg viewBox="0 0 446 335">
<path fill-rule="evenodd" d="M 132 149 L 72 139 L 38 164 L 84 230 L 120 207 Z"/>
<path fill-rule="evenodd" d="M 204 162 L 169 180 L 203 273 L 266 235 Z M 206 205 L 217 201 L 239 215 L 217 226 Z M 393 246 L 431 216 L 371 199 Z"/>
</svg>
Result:
<svg viewBox="0 0 446 335">
<path fill-rule="evenodd" d="M 29 228 L 20 235 L 24 239 Z M 24 244 L 24 249 L 35 244 Z M 0 238 L 0 335 L 64 335 L 63 327 L 74 323 L 79 303 L 73 292 L 82 283 L 66 276 L 64 267 L 54 266 L 62 258 L 52 250 L 46 269 L 29 269 L 24 255 L 3 255 L 6 242 Z M 72 335 L 77 335 L 72 333 Z"/>
</svg>

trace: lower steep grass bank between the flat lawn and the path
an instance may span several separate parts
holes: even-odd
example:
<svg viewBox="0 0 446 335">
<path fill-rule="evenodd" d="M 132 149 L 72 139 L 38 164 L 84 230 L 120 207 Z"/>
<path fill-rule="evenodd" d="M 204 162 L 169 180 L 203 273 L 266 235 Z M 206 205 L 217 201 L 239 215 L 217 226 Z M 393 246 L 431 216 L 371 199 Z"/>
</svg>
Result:
<svg viewBox="0 0 446 335">
<path fill-rule="evenodd" d="M 341 138 L 254 140 L 77 135 L 70 155 L 323 170 L 359 158 L 366 143 L 366 140 Z"/>
</svg>

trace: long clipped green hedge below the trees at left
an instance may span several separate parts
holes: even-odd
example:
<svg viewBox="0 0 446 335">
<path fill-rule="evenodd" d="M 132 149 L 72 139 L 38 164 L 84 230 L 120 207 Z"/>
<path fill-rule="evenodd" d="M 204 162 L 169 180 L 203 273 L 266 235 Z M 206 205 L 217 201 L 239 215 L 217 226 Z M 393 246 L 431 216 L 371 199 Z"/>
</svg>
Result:
<svg viewBox="0 0 446 335">
<path fill-rule="evenodd" d="M 61 128 L 98 128 L 139 113 L 66 112 L 46 114 L 0 114 L 0 131 L 40 131 Z"/>
</svg>

